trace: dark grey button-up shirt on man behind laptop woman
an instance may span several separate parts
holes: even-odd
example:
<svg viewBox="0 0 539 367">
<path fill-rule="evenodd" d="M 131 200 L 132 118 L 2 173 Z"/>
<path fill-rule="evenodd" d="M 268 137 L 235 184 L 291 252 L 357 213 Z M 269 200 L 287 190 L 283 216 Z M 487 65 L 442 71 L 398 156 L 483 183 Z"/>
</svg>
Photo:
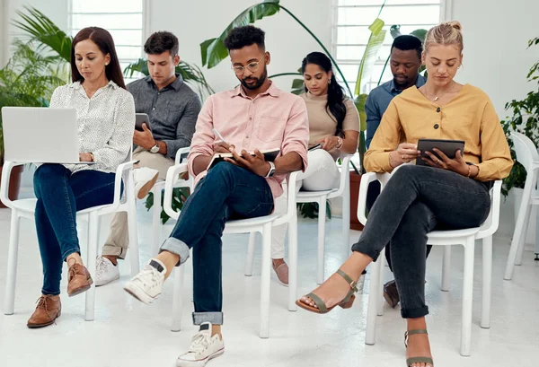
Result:
<svg viewBox="0 0 539 367">
<path fill-rule="evenodd" d="M 174 159 L 178 149 L 190 146 L 201 105 L 199 95 L 183 83 L 180 74 L 161 91 L 151 76 L 129 83 L 128 91 L 137 113 L 150 118 L 155 140 L 166 144 L 167 157 Z"/>
</svg>

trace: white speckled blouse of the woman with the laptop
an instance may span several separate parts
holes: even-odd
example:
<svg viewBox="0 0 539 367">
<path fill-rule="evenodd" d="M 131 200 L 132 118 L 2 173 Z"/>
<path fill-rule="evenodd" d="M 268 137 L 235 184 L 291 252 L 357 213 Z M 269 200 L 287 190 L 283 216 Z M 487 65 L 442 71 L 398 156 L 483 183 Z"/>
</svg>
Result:
<svg viewBox="0 0 539 367">
<path fill-rule="evenodd" d="M 51 108 L 76 109 L 80 153 L 93 153 L 94 164 L 64 164 L 72 172 L 115 172 L 133 146 L 135 102 L 131 93 L 110 81 L 88 98 L 80 82 L 57 87 Z"/>
</svg>

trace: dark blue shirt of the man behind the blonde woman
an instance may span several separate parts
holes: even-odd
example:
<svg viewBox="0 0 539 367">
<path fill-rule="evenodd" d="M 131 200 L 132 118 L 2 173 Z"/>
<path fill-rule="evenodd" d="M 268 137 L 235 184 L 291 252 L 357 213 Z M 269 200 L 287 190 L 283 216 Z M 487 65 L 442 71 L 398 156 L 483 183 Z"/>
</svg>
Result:
<svg viewBox="0 0 539 367">
<path fill-rule="evenodd" d="M 425 82 L 427 82 L 427 78 L 419 74 L 415 85 L 419 88 Z M 392 79 L 389 82 L 377 86 L 368 94 L 367 102 L 365 103 L 365 113 L 367 114 L 367 135 L 365 137 L 365 144 L 367 145 L 367 149 L 375 136 L 376 129 L 380 126 L 380 121 L 382 120 L 382 116 L 384 116 L 385 109 L 389 106 L 389 102 L 391 102 L 395 96 L 401 94 L 401 92 L 400 89 L 395 87 L 395 83 Z"/>
</svg>

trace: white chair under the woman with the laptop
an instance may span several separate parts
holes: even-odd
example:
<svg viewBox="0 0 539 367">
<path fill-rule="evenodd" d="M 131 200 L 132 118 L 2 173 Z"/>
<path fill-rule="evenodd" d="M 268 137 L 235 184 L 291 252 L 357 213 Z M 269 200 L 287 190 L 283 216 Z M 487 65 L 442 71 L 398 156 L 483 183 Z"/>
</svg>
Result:
<svg viewBox="0 0 539 367">
<path fill-rule="evenodd" d="M 97 257 L 97 246 L 99 240 L 100 231 L 100 217 L 105 214 L 127 212 L 128 213 L 128 231 L 130 248 L 129 258 L 131 260 L 131 274 L 137 275 L 139 269 L 138 259 L 138 241 L 137 241 L 137 207 L 135 203 L 135 197 L 133 195 L 133 175 L 131 170 L 133 168 L 133 161 L 131 161 L 131 153 L 128 155 L 126 162 L 119 165 L 116 170 L 116 179 L 114 182 L 114 201 L 110 205 L 99 205 L 84 209 L 76 213 L 78 220 L 83 220 L 88 223 L 88 248 L 86 256 L 86 267 L 95 279 L 95 258 Z M 34 221 L 34 211 L 37 203 L 36 198 L 10 200 L 8 198 L 8 182 L 13 167 L 21 165 L 23 163 L 17 162 L 4 162 L 4 169 L 2 170 L 2 186 L 0 188 L 0 199 L 7 207 L 12 210 L 11 217 L 11 230 L 9 240 L 9 250 L 7 256 L 7 276 L 5 281 L 5 301 L 4 301 L 4 314 L 13 315 L 14 303 L 15 303 L 15 281 L 17 276 L 17 258 L 19 253 L 19 224 L 21 218 L 28 218 Z M 122 177 L 124 179 L 124 200 L 121 200 L 121 182 Z M 80 229 L 80 227 L 79 227 Z M 94 318 L 95 307 L 95 284 L 85 293 L 86 306 L 84 312 L 84 319 L 86 321 L 92 321 Z"/>
</svg>

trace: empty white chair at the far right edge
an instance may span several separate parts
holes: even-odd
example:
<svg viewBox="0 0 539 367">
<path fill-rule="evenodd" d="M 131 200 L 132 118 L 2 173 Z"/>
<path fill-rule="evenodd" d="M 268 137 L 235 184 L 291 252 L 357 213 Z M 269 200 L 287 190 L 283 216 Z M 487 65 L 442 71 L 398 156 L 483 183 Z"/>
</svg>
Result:
<svg viewBox="0 0 539 367">
<path fill-rule="evenodd" d="M 515 149 L 515 153 L 517 153 L 517 160 L 524 166 L 527 175 L 520 209 L 517 214 L 515 232 L 513 233 L 513 240 L 511 240 L 511 248 L 509 249 L 508 264 L 503 275 L 505 280 L 511 280 L 515 265 L 522 264 L 530 214 L 533 208 L 536 209 L 535 205 L 539 205 L 539 195 L 536 190 L 537 178 L 539 177 L 539 153 L 537 153 L 537 148 L 534 142 L 524 134 L 514 131 L 511 133 L 511 138 L 514 144 L 513 148 Z M 535 253 L 539 253 L 539 242 L 535 243 Z"/>
</svg>

